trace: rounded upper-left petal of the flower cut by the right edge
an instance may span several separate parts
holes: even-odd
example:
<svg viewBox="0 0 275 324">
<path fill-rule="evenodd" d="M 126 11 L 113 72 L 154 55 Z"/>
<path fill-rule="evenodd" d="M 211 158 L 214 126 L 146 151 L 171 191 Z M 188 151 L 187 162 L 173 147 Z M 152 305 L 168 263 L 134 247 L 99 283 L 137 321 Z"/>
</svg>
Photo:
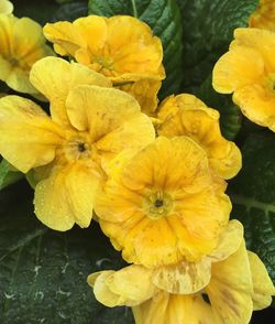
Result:
<svg viewBox="0 0 275 324">
<path fill-rule="evenodd" d="M 264 73 L 264 61 L 253 48 L 240 44 L 233 46 L 216 63 L 212 75 L 213 88 L 221 94 L 253 84 Z"/>
</svg>

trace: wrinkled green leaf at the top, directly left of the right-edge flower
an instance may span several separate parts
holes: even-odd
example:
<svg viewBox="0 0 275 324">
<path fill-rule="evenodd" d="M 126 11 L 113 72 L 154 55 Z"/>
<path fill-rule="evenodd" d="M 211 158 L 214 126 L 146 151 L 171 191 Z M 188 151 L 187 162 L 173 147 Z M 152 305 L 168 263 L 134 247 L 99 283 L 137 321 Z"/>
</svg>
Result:
<svg viewBox="0 0 275 324">
<path fill-rule="evenodd" d="M 184 23 L 184 89 L 199 86 L 228 51 L 235 28 L 246 26 L 258 0 L 178 0 Z"/>
</svg>

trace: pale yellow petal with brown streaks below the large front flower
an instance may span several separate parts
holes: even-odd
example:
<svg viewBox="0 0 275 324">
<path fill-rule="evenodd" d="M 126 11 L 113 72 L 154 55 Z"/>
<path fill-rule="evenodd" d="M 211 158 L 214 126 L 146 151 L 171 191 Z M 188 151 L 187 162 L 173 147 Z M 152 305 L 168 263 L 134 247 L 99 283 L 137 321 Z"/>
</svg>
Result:
<svg viewBox="0 0 275 324">
<path fill-rule="evenodd" d="M 173 294 L 190 294 L 206 287 L 211 278 L 211 261 L 204 258 L 198 262 L 180 261 L 175 266 L 154 270 L 153 283 Z"/>
</svg>

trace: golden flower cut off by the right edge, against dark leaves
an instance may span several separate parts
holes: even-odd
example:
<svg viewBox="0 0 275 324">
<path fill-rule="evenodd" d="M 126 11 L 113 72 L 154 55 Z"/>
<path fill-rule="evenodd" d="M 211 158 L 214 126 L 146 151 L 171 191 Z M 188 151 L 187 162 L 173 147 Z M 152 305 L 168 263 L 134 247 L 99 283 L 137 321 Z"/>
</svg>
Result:
<svg viewBox="0 0 275 324">
<path fill-rule="evenodd" d="M 237 29 L 234 37 L 213 68 L 213 87 L 233 93 L 233 101 L 249 119 L 275 131 L 275 33 Z"/>
</svg>

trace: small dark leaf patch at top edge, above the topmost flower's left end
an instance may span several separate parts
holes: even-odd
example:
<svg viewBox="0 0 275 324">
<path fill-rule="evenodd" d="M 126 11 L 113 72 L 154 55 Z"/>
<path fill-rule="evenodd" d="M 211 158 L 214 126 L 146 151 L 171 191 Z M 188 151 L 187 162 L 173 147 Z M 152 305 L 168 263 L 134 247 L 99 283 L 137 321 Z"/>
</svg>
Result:
<svg viewBox="0 0 275 324">
<path fill-rule="evenodd" d="M 51 21 L 74 21 L 79 17 L 86 17 L 88 14 L 88 2 L 72 2 L 64 3 L 61 8 L 54 13 Z"/>
</svg>

